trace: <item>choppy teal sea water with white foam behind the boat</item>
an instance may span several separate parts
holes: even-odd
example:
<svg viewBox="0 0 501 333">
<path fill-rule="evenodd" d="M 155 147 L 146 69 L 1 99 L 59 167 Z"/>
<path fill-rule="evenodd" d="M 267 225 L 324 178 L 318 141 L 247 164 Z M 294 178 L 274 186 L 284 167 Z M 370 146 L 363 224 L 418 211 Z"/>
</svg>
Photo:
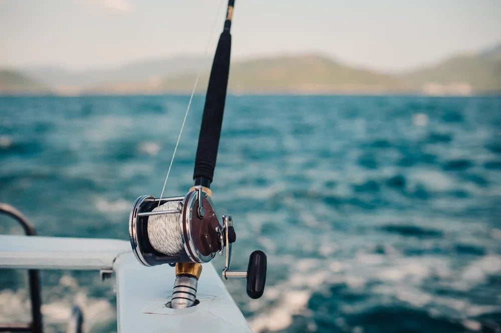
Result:
<svg viewBox="0 0 501 333">
<path fill-rule="evenodd" d="M 166 195 L 192 184 L 203 101 Z M 160 195 L 187 103 L 0 98 L 0 202 L 40 235 L 128 239 L 132 202 Z M 256 332 L 501 331 L 501 97 L 228 96 L 211 188 L 233 216 L 233 267 L 268 254 L 261 299 L 226 283 Z M 3 216 L 0 232 L 21 233 Z M 87 331 L 116 330 L 113 279 L 42 281 L 47 331 L 64 331 L 72 304 Z M 0 270 L 0 321 L 28 318 L 25 283 Z"/>
</svg>

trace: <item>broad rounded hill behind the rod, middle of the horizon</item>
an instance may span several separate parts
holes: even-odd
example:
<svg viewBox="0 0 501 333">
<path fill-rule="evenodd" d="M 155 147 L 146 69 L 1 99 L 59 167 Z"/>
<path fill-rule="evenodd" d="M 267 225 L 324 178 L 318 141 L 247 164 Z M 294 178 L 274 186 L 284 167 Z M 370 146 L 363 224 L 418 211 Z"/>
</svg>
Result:
<svg viewBox="0 0 501 333">
<path fill-rule="evenodd" d="M 194 75 L 166 78 L 164 90 L 186 90 Z M 205 89 L 207 75 L 200 80 Z M 399 79 L 357 69 L 319 55 L 283 56 L 235 62 L 230 68 L 228 89 L 234 93 L 382 93 L 403 91 Z"/>
</svg>

